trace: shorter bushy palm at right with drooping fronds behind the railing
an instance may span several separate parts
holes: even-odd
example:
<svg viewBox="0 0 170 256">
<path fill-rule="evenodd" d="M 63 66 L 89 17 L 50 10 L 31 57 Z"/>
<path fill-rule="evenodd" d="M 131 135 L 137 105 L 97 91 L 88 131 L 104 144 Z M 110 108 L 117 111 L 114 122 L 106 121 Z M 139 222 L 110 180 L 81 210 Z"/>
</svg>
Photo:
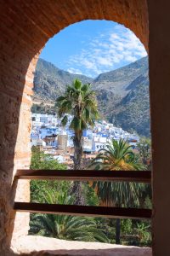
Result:
<svg viewBox="0 0 170 256">
<path fill-rule="evenodd" d="M 124 140 L 112 140 L 107 148 L 99 150 L 99 154 L 92 161 L 90 168 L 96 170 L 127 171 L 144 170 L 144 165 L 133 153 L 131 146 Z M 139 205 L 139 194 L 144 186 L 139 183 L 125 182 L 95 182 L 94 189 L 99 195 L 102 204 L 116 207 Z M 116 219 L 116 243 L 120 243 L 120 219 Z"/>
</svg>

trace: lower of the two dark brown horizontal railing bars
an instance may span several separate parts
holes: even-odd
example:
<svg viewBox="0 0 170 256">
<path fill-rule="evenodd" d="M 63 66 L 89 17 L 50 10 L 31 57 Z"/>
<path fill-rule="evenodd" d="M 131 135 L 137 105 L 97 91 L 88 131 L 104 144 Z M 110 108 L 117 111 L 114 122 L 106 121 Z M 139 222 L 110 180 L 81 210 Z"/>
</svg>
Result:
<svg viewBox="0 0 170 256">
<path fill-rule="evenodd" d="M 93 216 L 105 218 L 151 218 L 150 209 L 122 208 L 122 207 L 87 207 L 57 204 L 42 204 L 29 202 L 15 202 L 17 212 L 41 212 L 59 215 Z"/>
</svg>

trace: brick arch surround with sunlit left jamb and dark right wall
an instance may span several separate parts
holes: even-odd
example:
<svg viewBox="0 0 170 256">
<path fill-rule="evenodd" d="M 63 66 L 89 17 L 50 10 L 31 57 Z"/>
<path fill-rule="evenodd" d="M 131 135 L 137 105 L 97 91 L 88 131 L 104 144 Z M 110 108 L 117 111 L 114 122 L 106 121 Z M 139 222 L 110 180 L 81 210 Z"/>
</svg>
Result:
<svg viewBox="0 0 170 256">
<path fill-rule="evenodd" d="M 153 139 L 154 250 L 167 256 L 170 216 L 170 3 L 148 0 L 150 20 L 150 105 Z M 65 26 L 81 20 L 114 20 L 130 28 L 148 49 L 145 0 L 1 0 L 0 2 L 0 250 L 12 230 L 28 230 L 28 215 L 14 222 L 12 182 L 17 168 L 30 163 L 31 89 L 40 50 Z M 17 198 L 29 201 L 29 183 L 20 183 Z M 18 199 L 17 199 L 18 200 Z M 25 224 L 23 224 L 25 221 Z M 27 223 L 27 224 L 26 224 Z M 14 224 L 14 226 L 13 226 Z"/>
</svg>

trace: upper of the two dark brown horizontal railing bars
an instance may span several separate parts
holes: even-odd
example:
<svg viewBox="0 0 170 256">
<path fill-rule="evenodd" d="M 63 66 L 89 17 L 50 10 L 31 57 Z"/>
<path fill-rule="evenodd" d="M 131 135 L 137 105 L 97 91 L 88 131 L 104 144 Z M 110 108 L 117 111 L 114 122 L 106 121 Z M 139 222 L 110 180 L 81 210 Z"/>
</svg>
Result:
<svg viewBox="0 0 170 256">
<path fill-rule="evenodd" d="M 74 181 L 124 181 L 150 183 L 150 171 L 89 171 L 89 170 L 18 170 L 18 179 L 55 179 Z"/>
</svg>

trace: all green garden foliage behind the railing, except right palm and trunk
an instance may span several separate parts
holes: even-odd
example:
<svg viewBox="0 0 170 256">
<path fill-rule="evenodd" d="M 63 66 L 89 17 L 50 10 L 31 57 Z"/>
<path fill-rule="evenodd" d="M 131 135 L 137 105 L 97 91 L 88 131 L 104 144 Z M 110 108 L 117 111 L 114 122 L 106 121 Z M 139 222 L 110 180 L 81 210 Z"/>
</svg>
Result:
<svg viewBox="0 0 170 256">
<path fill-rule="evenodd" d="M 59 164 L 43 154 L 39 148 L 32 148 L 32 169 L 60 169 L 65 172 L 66 166 Z M 66 181 L 31 181 L 31 201 L 72 204 L 71 182 Z M 115 183 L 116 184 L 116 183 Z M 82 193 L 86 205 L 99 206 L 101 198 L 96 189 L 89 183 L 82 183 Z M 110 193 L 108 193 L 110 194 Z M 151 207 L 150 188 L 145 188 L 139 196 L 140 207 Z M 135 207 L 129 201 L 129 207 Z M 53 214 L 31 214 L 30 235 L 57 237 L 59 239 L 77 241 L 116 242 L 116 219 L 82 218 L 59 216 Z M 121 243 L 126 245 L 150 246 L 150 221 L 131 219 L 120 220 Z"/>
</svg>

